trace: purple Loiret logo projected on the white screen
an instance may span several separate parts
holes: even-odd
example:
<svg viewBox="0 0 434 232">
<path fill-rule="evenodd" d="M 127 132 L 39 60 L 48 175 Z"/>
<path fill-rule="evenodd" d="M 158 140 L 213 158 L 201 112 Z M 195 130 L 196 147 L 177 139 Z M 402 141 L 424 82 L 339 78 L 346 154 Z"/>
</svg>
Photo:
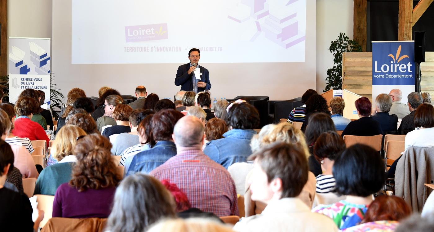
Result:
<svg viewBox="0 0 434 232">
<path fill-rule="evenodd" d="M 125 27 L 126 42 L 142 42 L 165 39 L 168 39 L 167 23 Z"/>
</svg>

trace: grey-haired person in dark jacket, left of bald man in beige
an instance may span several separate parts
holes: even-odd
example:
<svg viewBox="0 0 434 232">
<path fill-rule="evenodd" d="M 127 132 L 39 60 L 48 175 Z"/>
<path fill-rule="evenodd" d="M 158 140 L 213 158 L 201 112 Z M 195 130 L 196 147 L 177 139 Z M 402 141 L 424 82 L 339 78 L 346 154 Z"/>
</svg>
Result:
<svg viewBox="0 0 434 232">
<path fill-rule="evenodd" d="M 392 106 L 392 99 L 385 93 L 379 94 L 375 98 L 375 115 L 371 116 L 378 123 L 380 123 L 383 133 L 392 132 L 396 133 L 398 129 L 398 116 L 389 114 L 390 107 Z"/>
</svg>

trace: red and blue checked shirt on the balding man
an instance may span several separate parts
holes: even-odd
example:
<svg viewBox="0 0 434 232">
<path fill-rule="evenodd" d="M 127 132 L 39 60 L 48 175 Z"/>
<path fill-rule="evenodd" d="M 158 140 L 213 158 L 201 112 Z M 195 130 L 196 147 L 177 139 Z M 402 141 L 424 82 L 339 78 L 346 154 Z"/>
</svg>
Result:
<svg viewBox="0 0 434 232">
<path fill-rule="evenodd" d="M 239 215 L 237 191 L 229 172 L 200 149 L 178 153 L 150 175 L 176 184 L 193 208 L 219 217 Z"/>
</svg>

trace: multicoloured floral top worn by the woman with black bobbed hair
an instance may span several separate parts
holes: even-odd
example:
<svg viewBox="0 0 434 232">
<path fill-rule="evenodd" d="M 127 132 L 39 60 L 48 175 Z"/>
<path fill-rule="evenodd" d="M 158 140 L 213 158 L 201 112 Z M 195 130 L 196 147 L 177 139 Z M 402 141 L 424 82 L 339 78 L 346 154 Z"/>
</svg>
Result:
<svg viewBox="0 0 434 232">
<path fill-rule="evenodd" d="M 346 229 L 357 225 L 365 217 L 369 205 L 358 205 L 345 200 L 332 205 L 319 205 L 312 209 L 312 212 L 324 214 L 331 218 L 338 229 Z"/>
</svg>

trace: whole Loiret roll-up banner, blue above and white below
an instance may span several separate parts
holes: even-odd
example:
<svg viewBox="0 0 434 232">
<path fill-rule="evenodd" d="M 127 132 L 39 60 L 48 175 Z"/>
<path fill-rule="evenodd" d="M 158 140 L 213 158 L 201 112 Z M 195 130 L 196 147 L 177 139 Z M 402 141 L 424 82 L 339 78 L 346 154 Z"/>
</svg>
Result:
<svg viewBox="0 0 434 232">
<path fill-rule="evenodd" d="M 372 105 L 378 94 L 402 91 L 401 103 L 414 92 L 414 41 L 372 41 Z M 374 106 L 375 107 L 375 106 Z"/>
</svg>

